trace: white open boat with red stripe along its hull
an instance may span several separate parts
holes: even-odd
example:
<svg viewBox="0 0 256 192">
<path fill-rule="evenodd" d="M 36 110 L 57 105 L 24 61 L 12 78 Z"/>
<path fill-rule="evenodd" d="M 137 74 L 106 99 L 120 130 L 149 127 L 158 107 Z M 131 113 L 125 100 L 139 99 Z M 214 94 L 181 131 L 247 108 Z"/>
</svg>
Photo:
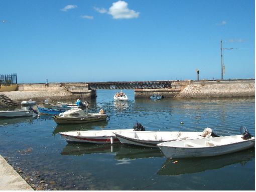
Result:
<svg viewBox="0 0 256 192">
<path fill-rule="evenodd" d="M 89 142 L 89 143 L 114 143 L 119 142 L 114 132 L 132 131 L 133 129 L 114 129 L 114 130 L 85 130 L 60 132 L 67 142 Z"/>
</svg>

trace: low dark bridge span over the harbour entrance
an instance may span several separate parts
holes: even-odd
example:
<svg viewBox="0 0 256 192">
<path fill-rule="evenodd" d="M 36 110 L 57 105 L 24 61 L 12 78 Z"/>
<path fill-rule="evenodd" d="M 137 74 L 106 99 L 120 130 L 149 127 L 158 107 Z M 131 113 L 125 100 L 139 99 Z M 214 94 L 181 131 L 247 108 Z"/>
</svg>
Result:
<svg viewBox="0 0 256 192">
<path fill-rule="evenodd" d="M 172 81 L 108 81 L 86 82 L 89 89 L 142 89 L 142 88 L 172 88 Z"/>
</svg>

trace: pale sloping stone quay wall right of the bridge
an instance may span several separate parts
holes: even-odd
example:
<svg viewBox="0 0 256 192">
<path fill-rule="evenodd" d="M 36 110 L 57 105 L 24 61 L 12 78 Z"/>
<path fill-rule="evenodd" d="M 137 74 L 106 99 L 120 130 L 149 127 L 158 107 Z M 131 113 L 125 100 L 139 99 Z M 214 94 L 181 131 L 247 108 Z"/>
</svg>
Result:
<svg viewBox="0 0 256 192">
<path fill-rule="evenodd" d="M 255 80 L 190 81 L 177 98 L 255 96 Z"/>
</svg>

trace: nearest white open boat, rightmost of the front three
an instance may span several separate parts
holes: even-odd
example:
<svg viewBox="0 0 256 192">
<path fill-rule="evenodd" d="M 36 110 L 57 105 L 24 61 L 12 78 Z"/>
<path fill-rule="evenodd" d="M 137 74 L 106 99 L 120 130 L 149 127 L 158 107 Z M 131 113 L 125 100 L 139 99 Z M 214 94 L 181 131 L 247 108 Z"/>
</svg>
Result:
<svg viewBox="0 0 256 192">
<path fill-rule="evenodd" d="M 247 132 L 248 133 L 248 132 Z M 158 147 L 170 158 L 217 156 L 255 145 L 255 137 L 245 134 L 162 142 Z"/>
</svg>

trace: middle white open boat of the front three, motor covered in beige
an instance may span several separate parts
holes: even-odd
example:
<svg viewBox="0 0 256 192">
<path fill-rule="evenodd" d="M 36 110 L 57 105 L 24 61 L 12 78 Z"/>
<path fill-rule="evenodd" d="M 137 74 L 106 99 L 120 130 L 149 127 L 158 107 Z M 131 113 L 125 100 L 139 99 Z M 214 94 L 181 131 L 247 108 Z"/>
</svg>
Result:
<svg viewBox="0 0 256 192">
<path fill-rule="evenodd" d="M 116 137 L 123 144 L 133 144 L 148 147 L 158 147 L 157 144 L 166 141 L 198 139 L 215 135 L 211 128 L 203 132 L 182 131 L 120 131 L 115 132 Z"/>
</svg>

